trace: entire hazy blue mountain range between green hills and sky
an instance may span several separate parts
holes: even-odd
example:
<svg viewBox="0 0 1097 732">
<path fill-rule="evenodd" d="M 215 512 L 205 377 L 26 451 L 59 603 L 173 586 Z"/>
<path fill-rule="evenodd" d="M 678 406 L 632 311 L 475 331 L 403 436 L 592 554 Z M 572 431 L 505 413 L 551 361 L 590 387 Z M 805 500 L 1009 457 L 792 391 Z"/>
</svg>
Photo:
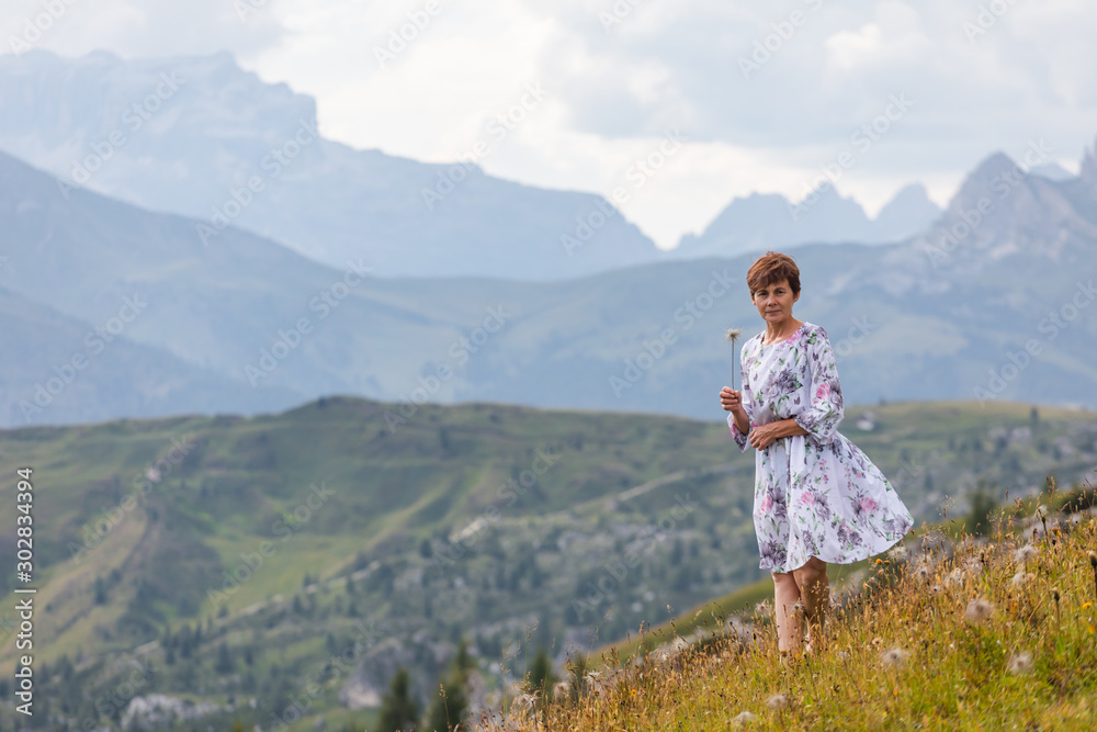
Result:
<svg viewBox="0 0 1097 732">
<path fill-rule="evenodd" d="M 561 264 L 568 257 L 538 249 L 523 227 L 541 226 L 542 214 L 574 224 L 575 211 L 598 206 L 597 196 L 561 198 L 484 176 L 495 193 L 478 199 L 486 207 L 467 210 L 485 215 L 467 221 L 493 228 L 490 241 L 539 277 L 486 277 L 465 256 L 474 249 L 467 241 L 446 256 L 464 258 L 476 277 L 449 266 L 440 268 L 446 277 L 392 277 L 393 268 L 329 239 L 323 227 L 316 241 L 332 243 L 323 256 L 285 235 L 301 204 L 292 191 L 319 195 L 321 171 L 338 170 L 350 177 L 347 185 L 377 188 L 362 194 L 369 205 L 352 206 L 373 210 L 391 206 L 396 188 L 410 195 L 406 180 L 419 185 L 438 166 L 303 142 L 301 167 L 274 181 L 290 187 L 283 191 L 290 198 L 274 195 L 282 190 L 275 185 L 248 187 L 250 193 L 237 189 L 233 200 L 251 195 L 251 204 L 240 204 L 229 225 L 203 213 L 211 181 L 231 178 L 226 171 L 245 170 L 242 160 L 291 135 L 292 119 L 315 119 L 312 100 L 262 83 L 226 54 L 171 61 L 108 54 L 68 61 L 44 52 L 18 63 L 0 57 L 0 93 L 24 102 L 0 111 L 3 147 L 53 166 L 43 170 L 0 154 L 0 307 L 5 328 L 19 336 L 0 357 L 0 425 L 157 416 L 183 405 L 255 414 L 330 394 L 403 401 L 406 412 L 428 399 L 488 401 L 720 418 L 714 395 L 731 382 L 724 330 L 760 329 L 743 283 L 755 257 L 749 249 L 792 236 L 750 213 L 768 207 L 776 216 L 788 201 L 753 196 L 733 202 L 697 243 L 682 246 L 701 255 L 705 241 L 721 236 L 755 243 L 735 256 L 649 260 L 654 247 L 636 245 L 642 235 L 614 214 L 607 221 L 625 243 L 618 254 L 632 251 L 633 263 L 599 238 L 580 249 L 602 251 L 595 255 L 606 255 L 601 264 Z M 122 137 L 114 134 L 120 129 Z M 110 159 L 104 145 L 114 148 Z M 104 160 L 86 184 L 55 172 L 72 160 L 87 164 L 95 149 Z M 366 159 L 381 167 L 348 172 L 350 161 Z M 930 226 L 900 241 L 782 247 L 802 268 L 796 315 L 827 329 L 850 403 L 1020 398 L 1095 406 L 1097 327 L 1086 308 L 1097 262 L 1097 159 L 1089 153 L 1079 176 L 1039 155 L 1022 162 L 989 156 Z M 91 190 L 100 185 L 148 201 L 137 206 Z M 354 185 L 342 198 L 332 194 L 331 205 L 359 200 L 348 192 Z M 201 217 L 152 210 L 177 193 L 177 205 Z M 520 206 L 513 196 L 524 196 Z M 914 225 L 904 211 L 931 213 L 917 187 L 898 198 L 909 205 L 873 225 L 898 232 L 904 222 Z M 438 236 L 462 230 L 397 209 L 389 210 L 392 226 L 421 229 L 393 249 L 408 262 L 431 259 L 422 227 L 439 226 Z M 849 221 L 863 216 L 833 191 L 821 192 L 808 215 L 819 216 L 823 230 L 827 212 L 839 210 L 852 212 Z M 252 212 L 255 226 L 247 226 Z M 781 216 L 787 221 L 788 211 Z M 361 230 L 338 216 L 320 217 L 344 234 Z M 838 237 L 841 226 L 827 225 Z M 610 236 L 610 228 L 598 236 Z M 496 245 L 484 241 L 480 254 L 493 260 Z M 711 246 L 734 249 L 742 241 Z M 608 269 L 588 271 L 601 266 Z"/>
</svg>

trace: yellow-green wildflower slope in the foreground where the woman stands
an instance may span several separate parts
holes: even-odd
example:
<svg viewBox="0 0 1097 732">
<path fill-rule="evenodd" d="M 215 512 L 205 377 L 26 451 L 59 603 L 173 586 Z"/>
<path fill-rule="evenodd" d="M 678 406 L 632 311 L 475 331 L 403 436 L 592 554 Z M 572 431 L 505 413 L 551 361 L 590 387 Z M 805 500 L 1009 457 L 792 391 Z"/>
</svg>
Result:
<svg viewBox="0 0 1097 732">
<path fill-rule="evenodd" d="M 769 611 L 747 612 L 703 642 L 574 675 L 552 702 L 520 697 L 508 729 L 1093 730 L 1097 519 L 1052 508 L 1044 523 L 1033 508 L 996 513 L 989 539 L 915 532 L 811 654 L 782 663 Z"/>
</svg>

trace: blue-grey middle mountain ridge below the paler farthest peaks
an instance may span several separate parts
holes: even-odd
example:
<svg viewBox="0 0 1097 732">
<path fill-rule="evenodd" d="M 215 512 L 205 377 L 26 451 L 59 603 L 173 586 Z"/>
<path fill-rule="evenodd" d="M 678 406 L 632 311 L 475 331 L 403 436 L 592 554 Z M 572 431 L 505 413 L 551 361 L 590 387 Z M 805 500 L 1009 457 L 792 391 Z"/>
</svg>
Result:
<svg viewBox="0 0 1097 732">
<path fill-rule="evenodd" d="M 962 221 L 963 201 L 991 191 L 1009 165 L 992 156 L 980 166 L 937 228 Z M 1097 391 L 1086 387 L 1097 384 L 1093 319 L 1062 323 L 1053 335 L 1043 319 L 1087 286 L 1079 278 L 1095 261 L 1097 196 L 1085 178 L 1016 180 L 970 240 L 945 257 L 934 252 L 932 234 L 897 245 L 789 249 L 803 271 L 796 314 L 826 327 L 851 403 L 973 398 L 981 388 L 1088 404 Z M 742 283 L 754 255 L 539 283 L 371 272 L 329 306 L 323 297 L 332 297 L 349 270 L 235 228 L 203 246 L 193 221 L 61 191 L 5 156 L 0 226 L 8 232 L 0 285 L 90 323 L 113 316 L 123 296 L 143 294 L 149 307 L 125 336 L 253 391 L 248 404 L 256 408 L 284 407 L 286 394 L 411 398 L 425 388 L 443 402 L 711 417 L 712 394 L 731 381 L 723 331 L 739 325 L 753 335 L 758 317 Z M 991 244 L 998 249 L 985 248 Z M 1087 303 L 1081 292 L 1078 303 Z M 493 308 L 500 317 L 490 319 Z M 312 328 L 304 337 L 291 333 L 301 318 Z M 1018 378 L 995 381 L 991 370 L 1000 374 L 1030 339 L 1045 353 Z M 117 379 L 125 388 L 125 374 Z M 14 414 L 11 406 L 5 414 Z M 125 414 L 120 406 L 104 416 Z"/>
</svg>

